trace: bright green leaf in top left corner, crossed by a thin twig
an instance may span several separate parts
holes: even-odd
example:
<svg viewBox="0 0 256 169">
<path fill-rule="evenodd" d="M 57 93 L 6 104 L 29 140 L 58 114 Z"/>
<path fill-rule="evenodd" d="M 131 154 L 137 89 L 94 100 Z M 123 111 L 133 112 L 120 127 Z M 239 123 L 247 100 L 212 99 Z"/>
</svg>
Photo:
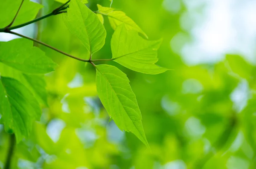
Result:
<svg viewBox="0 0 256 169">
<path fill-rule="evenodd" d="M 19 9 L 21 0 L 1 0 L 0 3 L 0 28 L 6 27 L 12 22 L 17 10 Z M 43 6 L 29 0 L 24 0 L 23 5 L 12 26 L 28 22 L 36 17 L 39 9 Z"/>
</svg>

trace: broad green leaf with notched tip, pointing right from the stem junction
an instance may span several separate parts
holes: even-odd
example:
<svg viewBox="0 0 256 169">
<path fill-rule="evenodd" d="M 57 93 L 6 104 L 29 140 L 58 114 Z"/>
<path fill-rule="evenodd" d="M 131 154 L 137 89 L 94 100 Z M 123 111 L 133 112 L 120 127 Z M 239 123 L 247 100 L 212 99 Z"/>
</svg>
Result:
<svg viewBox="0 0 256 169">
<path fill-rule="evenodd" d="M 128 31 L 124 25 L 119 26 L 113 34 L 111 49 L 114 61 L 131 70 L 159 74 L 166 68 L 155 65 L 157 49 L 162 40 L 145 40 L 134 30 Z"/>
</svg>

